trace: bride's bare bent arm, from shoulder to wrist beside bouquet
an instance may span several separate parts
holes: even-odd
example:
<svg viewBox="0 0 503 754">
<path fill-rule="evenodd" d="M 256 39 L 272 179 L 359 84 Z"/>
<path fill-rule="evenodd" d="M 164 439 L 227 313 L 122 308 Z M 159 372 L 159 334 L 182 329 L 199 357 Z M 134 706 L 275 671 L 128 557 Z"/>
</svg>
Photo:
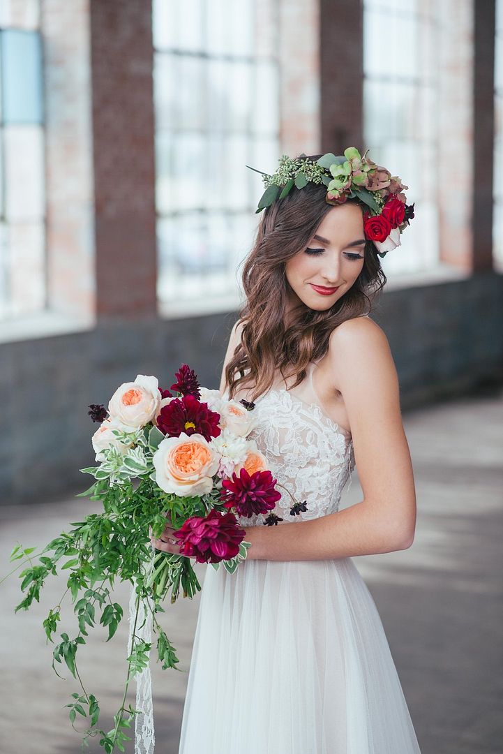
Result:
<svg viewBox="0 0 503 754">
<path fill-rule="evenodd" d="M 364 499 L 311 521 L 248 527 L 248 558 L 332 559 L 413 543 L 416 492 L 388 339 L 367 317 L 347 320 L 331 334 L 328 358 L 346 405 Z"/>
</svg>

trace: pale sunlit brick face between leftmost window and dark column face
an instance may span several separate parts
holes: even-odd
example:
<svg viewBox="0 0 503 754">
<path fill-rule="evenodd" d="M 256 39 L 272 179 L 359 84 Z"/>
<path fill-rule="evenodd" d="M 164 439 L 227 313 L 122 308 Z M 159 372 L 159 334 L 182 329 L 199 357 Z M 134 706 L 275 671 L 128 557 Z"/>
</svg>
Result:
<svg viewBox="0 0 503 754">
<path fill-rule="evenodd" d="M 41 3 L 47 291 L 50 309 L 94 315 L 93 166 L 87 0 Z"/>
</svg>

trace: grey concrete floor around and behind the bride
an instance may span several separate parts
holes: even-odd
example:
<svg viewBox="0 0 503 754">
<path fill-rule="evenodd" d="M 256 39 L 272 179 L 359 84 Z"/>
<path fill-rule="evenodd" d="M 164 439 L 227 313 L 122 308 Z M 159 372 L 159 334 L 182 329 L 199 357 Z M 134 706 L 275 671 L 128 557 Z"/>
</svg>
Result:
<svg viewBox="0 0 503 754">
<path fill-rule="evenodd" d="M 416 480 L 415 541 L 408 550 L 354 561 L 383 619 L 422 754 L 501 754 L 503 391 L 408 412 L 404 426 Z M 343 507 L 359 500 L 353 474 Z M 80 498 L 0 507 L 0 574 L 8 572 L 16 541 L 25 547 L 45 544 L 91 510 L 96 508 Z M 205 569 L 197 565 L 201 583 Z M 63 590 L 61 579 L 47 581 L 42 604 L 14 615 L 17 578 L 0 587 L 2 754 L 80 750 L 81 737 L 64 708 L 78 687 L 69 673 L 64 681 L 51 670 L 52 651 L 41 627 Z M 123 585 L 116 595 L 127 605 Z M 163 615 L 185 671 L 198 607 L 199 595 L 179 599 Z M 69 615 L 67 608 L 59 625 L 72 633 Z M 105 726 L 119 703 L 127 623 L 109 645 L 100 630 L 94 633 L 80 650 L 80 670 L 100 700 Z M 153 677 L 156 751 L 177 754 L 187 673 L 154 665 Z M 87 751 L 102 749 L 92 743 Z"/>
</svg>

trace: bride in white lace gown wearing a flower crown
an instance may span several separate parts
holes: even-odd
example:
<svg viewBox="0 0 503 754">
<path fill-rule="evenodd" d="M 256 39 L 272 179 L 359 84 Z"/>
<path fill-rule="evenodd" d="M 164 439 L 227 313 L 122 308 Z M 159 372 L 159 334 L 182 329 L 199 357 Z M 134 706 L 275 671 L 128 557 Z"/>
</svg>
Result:
<svg viewBox="0 0 503 754">
<path fill-rule="evenodd" d="M 284 156 L 264 183 L 220 392 L 255 412 L 249 437 L 282 498 L 241 517 L 252 544 L 235 573 L 206 569 L 179 754 L 419 754 L 352 561 L 414 538 L 398 375 L 368 316 L 386 284 L 379 257 L 413 207 L 398 176 L 354 147 Z M 363 499 L 339 510 L 355 465 Z M 179 553 L 172 533 L 156 547 Z"/>
</svg>

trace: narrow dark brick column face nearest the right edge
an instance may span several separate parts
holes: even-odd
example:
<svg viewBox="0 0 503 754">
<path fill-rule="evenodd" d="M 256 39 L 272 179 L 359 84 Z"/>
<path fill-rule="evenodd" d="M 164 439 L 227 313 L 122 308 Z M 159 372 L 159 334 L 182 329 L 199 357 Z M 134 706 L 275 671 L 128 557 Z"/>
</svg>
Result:
<svg viewBox="0 0 503 754">
<path fill-rule="evenodd" d="M 492 269 L 495 2 L 474 2 L 474 184 L 472 269 Z"/>
</svg>

